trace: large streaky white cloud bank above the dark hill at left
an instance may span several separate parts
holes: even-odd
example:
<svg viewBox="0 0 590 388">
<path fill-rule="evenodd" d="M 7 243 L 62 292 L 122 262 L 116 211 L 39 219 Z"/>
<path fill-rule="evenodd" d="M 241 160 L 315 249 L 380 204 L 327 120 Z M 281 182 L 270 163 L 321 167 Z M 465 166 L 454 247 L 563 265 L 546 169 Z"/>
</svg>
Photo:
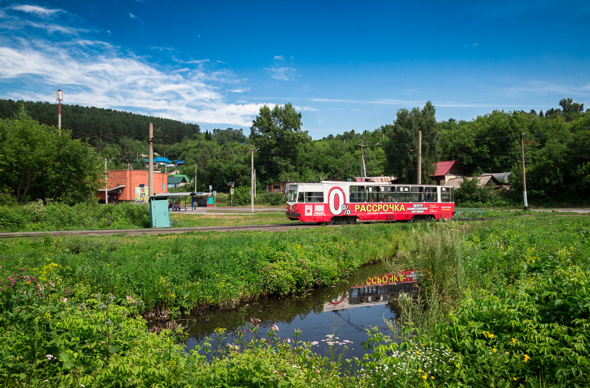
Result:
<svg viewBox="0 0 590 388">
<path fill-rule="evenodd" d="M 186 62 L 182 69 L 161 68 L 123 56 L 105 42 L 22 40 L 13 47 L 0 46 L 0 97 L 53 100 L 59 86 L 69 104 L 195 123 L 251 124 L 263 104 L 227 103 L 218 91 L 223 84 L 238 82 L 231 73 L 207 70 L 204 61 Z M 234 88 L 238 90 L 247 89 Z"/>
</svg>

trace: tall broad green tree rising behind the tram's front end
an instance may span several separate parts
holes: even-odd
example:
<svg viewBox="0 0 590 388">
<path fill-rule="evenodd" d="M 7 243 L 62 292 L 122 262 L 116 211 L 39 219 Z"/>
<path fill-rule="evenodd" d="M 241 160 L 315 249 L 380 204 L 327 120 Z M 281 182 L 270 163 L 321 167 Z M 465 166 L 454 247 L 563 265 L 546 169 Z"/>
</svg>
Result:
<svg viewBox="0 0 590 388">
<path fill-rule="evenodd" d="M 301 113 L 290 103 L 260 108 L 260 114 L 252 121 L 250 140 L 260 150 L 257 154 L 257 172 L 265 183 L 281 172 L 297 172 L 302 169 L 304 150 L 310 143 L 307 131 L 301 130 Z"/>
</svg>

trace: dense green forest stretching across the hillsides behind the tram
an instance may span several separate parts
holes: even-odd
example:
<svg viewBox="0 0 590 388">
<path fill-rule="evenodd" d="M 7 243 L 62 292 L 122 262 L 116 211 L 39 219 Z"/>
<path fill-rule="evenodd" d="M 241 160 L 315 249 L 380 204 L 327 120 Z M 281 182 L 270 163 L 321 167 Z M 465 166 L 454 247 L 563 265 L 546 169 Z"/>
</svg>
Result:
<svg viewBox="0 0 590 388">
<path fill-rule="evenodd" d="M 0 119 L 7 129 L 20 106 L 32 120 L 57 126 L 56 104 L 0 100 Z M 62 126 L 73 140 L 87 142 L 99 157 L 112 159 L 109 169 L 141 169 L 145 167 L 136 162 L 147 152 L 148 123 L 152 122 L 157 130 L 155 152 L 185 162 L 179 172 L 196 176 L 197 189 L 213 185 L 220 192 L 227 191 L 229 181 L 250 186 L 252 150 L 259 185 L 360 176 L 361 153 L 367 176 L 396 176 L 401 182 L 414 183 L 421 130 L 422 182 L 430 183 L 435 162 L 443 160 L 457 160 L 466 175 L 512 172 L 514 190 L 506 198 L 514 203 L 522 201 L 520 137 L 524 134 L 529 202 L 587 204 L 590 110 L 584 111 L 584 104 L 571 98 L 563 98 L 559 106 L 545 113 L 494 110 L 471 121 L 437 121 L 429 101 L 424 107 L 398 110 L 392 123 L 377 129 L 343 131 L 319 140 L 312 140 L 302 129 L 304 118 L 291 104 L 261 108 L 247 133 L 233 128 L 202 132 L 198 124 L 70 105 L 62 106 Z M 3 157 L 9 155 L 6 147 L 14 144 L 18 142 L 0 137 Z M 0 178 L 9 173 L 0 170 Z M 6 186 L 6 180 L 0 180 L 0 190 L 11 192 Z M 31 193 L 28 198 L 42 197 Z"/>
</svg>

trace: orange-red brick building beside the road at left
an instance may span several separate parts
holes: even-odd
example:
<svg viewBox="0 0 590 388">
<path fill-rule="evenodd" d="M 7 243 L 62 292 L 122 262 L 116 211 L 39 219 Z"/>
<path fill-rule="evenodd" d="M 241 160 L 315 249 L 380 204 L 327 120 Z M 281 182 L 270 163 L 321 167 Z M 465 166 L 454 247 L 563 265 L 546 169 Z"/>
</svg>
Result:
<svg viewBox="0 0 590 388">
<path fill-rule="evenodd" d="M 148 171 L 146 170 L 112 170 L 107 173 L 109 203 L 148 202 Z M 143 185 L 143 186 L 140 186 Z M 153 193 L 165 193 L 168 176 L 153 172 Z M 96 193 L 100 203 L 104 203 L 104 188 Z"/>
</svg>

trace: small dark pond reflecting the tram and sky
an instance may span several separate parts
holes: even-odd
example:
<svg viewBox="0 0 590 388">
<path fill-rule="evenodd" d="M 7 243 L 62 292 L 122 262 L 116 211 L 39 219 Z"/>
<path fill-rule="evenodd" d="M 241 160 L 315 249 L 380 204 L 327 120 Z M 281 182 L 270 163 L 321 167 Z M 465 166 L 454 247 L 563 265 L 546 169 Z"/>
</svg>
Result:
<svg viewBox="0 0 590 388">
<path fill-rule="evenodd" d="M 317 341 L 316 353 L 327 347 L 322 340 L 329 334 L 339 341 L 352 341 L 348 355 L 362 357 L 360 343 L 368 339 L 366 329 L 382 327 L 383 321 L 395 322 L 396 298 L 401 292 L 415 296 L 419 286 L 414 271 L 388 272 L 382 263 L 369 264 L 336 287 L 323 287 L 307 291 L 303 295 L 269 297 L 242 304 L 234 310 L 205 310 L 183 317 L 188 324 L 187 350 L 209 336 L 216 328 L 234 332 L 245 321 L 255 318 L 261 326 L 278 327 L 278 336 L 293 340 L 295 330 L 301 330 L 299 340 Z M 266 328 L 259 336 L 266 336 Z"/>
</svg>

